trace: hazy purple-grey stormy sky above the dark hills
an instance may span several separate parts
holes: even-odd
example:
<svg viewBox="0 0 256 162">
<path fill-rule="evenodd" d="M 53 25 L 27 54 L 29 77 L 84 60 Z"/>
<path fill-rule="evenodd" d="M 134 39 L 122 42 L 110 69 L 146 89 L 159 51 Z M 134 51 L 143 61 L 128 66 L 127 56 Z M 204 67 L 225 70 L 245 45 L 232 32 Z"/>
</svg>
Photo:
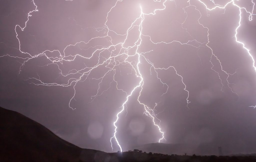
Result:
<svg viewBox="0 0 256 162">
<path fill-rule="evenodd" d="M 34 3 L 0 1 L 1 107 L 82 148 L 112 152 L 124 109 L 123 151 L 162 138 L 153 117 L 162 143 L 256 152 L 256 71 L 236 41 L 256 59 L 254 0 Z"/>
</svg>

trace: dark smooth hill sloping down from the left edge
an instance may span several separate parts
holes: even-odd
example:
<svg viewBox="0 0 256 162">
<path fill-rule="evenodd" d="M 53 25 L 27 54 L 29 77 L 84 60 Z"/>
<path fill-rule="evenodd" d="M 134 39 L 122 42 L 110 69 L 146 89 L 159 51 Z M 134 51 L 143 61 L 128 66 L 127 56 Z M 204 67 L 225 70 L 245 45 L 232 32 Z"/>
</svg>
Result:
<svg viewBox="0 0 256 162">
<path fill-rule="evenodd" d="M 0 161 L 94 161 L 107 156 L 82 149 L 28 117 L 0 107 Z"/>
</svg>

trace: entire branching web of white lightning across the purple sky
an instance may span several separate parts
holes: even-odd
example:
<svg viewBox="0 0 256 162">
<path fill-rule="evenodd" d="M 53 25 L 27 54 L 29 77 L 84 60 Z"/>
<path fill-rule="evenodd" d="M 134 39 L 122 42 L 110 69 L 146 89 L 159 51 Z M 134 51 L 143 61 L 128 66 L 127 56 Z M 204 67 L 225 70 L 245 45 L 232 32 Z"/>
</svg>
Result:
<svg viewBox="0 0 256 162">
<path fill-rule="evenodd" d="M 73 0 L 65 0 L 65 1 L 73 1 Z M 223 88 L 226 88 L 226 86 L 224 85 L 225 83 L 223 81 L 223 78 L 221 78 L 220 72 L 214 69 L 215 65 L 212 62 L 213 59 L 218 61 L 219 66 L 221 68 L 221 73 L 225 73 L 226 74 L 225 81 L 226 81 L 227 88 L 229 88 L 231 92 L 233 92 L 236 95 L 238 95 L 230 87 L 230 85 L 233 84 L 233 83 L 230 83 L 228 81 L 229 77 L 231 75 L 235 74 L 236 72 L 229 73 L 229 72 L 225 71 L 222 68 L 222 63 L 221 63 L 220 59 L 214 54 L 214 50 L 209 46 L 209 43 L 210 43 L 210 39 L 209 39 L 210 31 L 209 31 L 209 28 L 200 23 L 200 18 L 202 16 L 201 12 L 200 12 L 199 9 L 197 9 L 196 5 L 191 4 L 192 0 L 188 0 L 187 1 L 187 6 L 183 8 L 184 13 L 188 16 L 188 14 L 186 12 L 186 9 L 188 7 L 193 7 L 197 12 L 199 12 L 200 17 L 198 18 L 197 21 L 198 21 L 199 25 L 201 25 L 203 28 L 205 28 L 207 30 L 207 38 L 208 38 L 207 42 L 200 42 L 200 41 L 194 39 L 191 36 L 191 34 L 188 32 L 188 30 L 186 28 L 184 28 L 183 25 L 184 25 L 185 21 L 187 20 L 187 16 L 186 16 L 186 18 L 185 18 L 185 20 L 183 22 L 178 22 L 178 23 L 180 23 L 181 28 L 183 30 L 185 30 L 190 35 L 190 37 L 191 37 L 191 40 L 189 40 L 187 42 L 181 42 L 181 41 L 178 41 L 178 40 L 174 40 L 174 41 L 171 41 L 171 42 L 165 42 L 165 41 L 156 42 L 156 41 L 154 41 L 151 38 L 150 35 L 143 34 L 143 21 L 144 21 L 144 19 L 147 16 L 156 15 L 157 12 L 161 12 L 162 10 L 165 10 L 166 9 L 166 5 L 165 4 L 166 4 L 167 1 L 173 1 L 175 7 L 177 8 L 175 0 L 165 0 L 165 1 L 163 1 L 162 7 L 154 9 L 153 12 L 151 12 L 151 13 L 144 13 L 143 12 L 143 6 L 140 6 L 140 9 L 141 9 L 140 15 L 133 22 L 131 22 L 131 25 L 126 30 L 125 34 L 120 34 L 120 33 L 117 33 L 114 30 L 111 30 L 108 27 L 108 25 L 107 25 L 108 24 L 109 13 L 112 12 L 112 9 L 115 8 L 118 3 L 122 3 L 123 2 L 123 0 L 117 0 L 116 3 L 114 4 L 114 6 L 111 7 L 109 12 L 107 13 L 106 21 L 105 21 L 103 27 L 101 27 L 101 28 L 88 27 L 88 28 L 95 29 L 95 31 L 97 31 L 98 33 L 103 32 L 104 33 L 103 36 L 93 37 L 90 40 L 88 40 L 87 42 L 86 41 L 80 41 L 80 42 L 76 42 L 74 44 L 69 44 L 69 45 L 67 45 L 63 49 L 63 51 L 59 51 L 59 50 L 45 50 L 45 51 L 43 51 L 43 52 L 41 52 L 39 54 L 33 55 L 33 54 L 25 52 L 25 51 L 23 51 L 21 49 L 21 42 L 20 42 L 20 39 L 19 39 L 19 36 L 18 36 L 18 32 L 17 32 L 18 29 L 21 30 L 21 31 L 24 31 L 24 29 L 26 28 L 26 26 L 28 24 L 29 17 L 31 17 L 34 12 L 38 12 L 38 9 L 37 9 L 38 7 L 35 4 L 34 0 L 32 0 L 31 2 L 34 4 L 35 9 L 28 13 L 27 20 L 25 21 L 25 25 L 23 27 L 21 27 L 21 25 L 16 25 L 15 26 L 16 38 L 18 40 L 18 48 L 15 48 L 15 49 L 17 49 L 20 53 L 22 53 L 24 55 L 24 57 L 13 56 L 13 55 L 10 55 L 10 54 L 6 54 L 6 55 L 0 56 L 0 57 L 8 56 L 8 57 L 13 57 L 13 58 L 24 60 L 23 63 L 21 63 L 21 66 L 20 66 L 20 69 L 19 69 L 19 73 L 22 71 L 23 67 L 25 66 L 25 64 L 28 61 L 30 61 L 30 60 L 32 60 L 34 58 L 38 58 L 38 57 L 46 57 L 46 59 L 50 63 L 46 64 L 45 66 L 49 66 L 49 65 L 57 66 L 57 68 L 59 70 L 59 73 L 60 73 L 60 75 L 62 77 L 64 77 L 64 78 L 65 77 L 69 77 L 68 81 L 66 83 L 55 83 L 55 82 L 47 83 L 47 82 L 42 81 L 38 74 L 37 74 L 36 78 L 35 77 L 31 77 L 31 78 L 28 78 L 27 80 L 31 80 L 32 84 L 35 84 L 35 85 L 62 86 L 62 87 L 69 87 L 69 86 L 71 86 L 71 87 L 73 87 L 74 93 L 73 93 L 72 98 L 69 101 L 69 107 L 71 109 L 73 109 L 73 110 L 75 108 L 71 107 L 71 101 L 75 100 L 76 85 L 77 85 L 78 82 L 84 82 L 86 80 L 99 81 L 97 92 L 95 93 L 95 95 L 91 96 L 91 102 L 93 102 L 93 100 L 96 97 L 98 97 L 98 96 L 102 95 L 104 92 L 108 91 L 111 88 L 112 84 L 115 84 L 116 89 L 118 91 L 121 91 L 125 95 L 125 99 L 124 99 L 124 102 L 122 103 L 122 105 L 119 107 L 120 111 L 116 113 L 116 115 L 115 115 L 116 119 L 113 122 L 114 133 L 113 133 L 113 136 L 110 138 L 110 143 L 111 143 L 112 150 L 113 150 L 112 140 L 114 139 L 116 144 L 118 145 L 119 149 L 121 150 L 121 152 L 123 151 L 122 147 L 121 147 L 121 144 L 118 141 L 118 137 L 117 137 L 117 129 L 118 129 L 117 123 L 118 123 L 118 121 L 120 119 L 120 114 L 125 110 L 125 108 L 127 110 L 127 102 L 129 101 L 131 96 L 132 95 L 137 95 L 137 102 L 142 107 L 144 107 L 144 113 L 143 114 L 145 114 L 146 116 L 151 118 L 153 124 L 156 126 L 156 128 L 159 131 L 159 133 L 161 134 L 161 137 L 158 139 L 158 142 L 161 142 L 162 140 L 165 140 L 165 137 L 164 137 L 164 132 L 163 132 L 163 130 L 161 128 L 161 125 L 160 125 L 161 120 L 157 118 L 157 115 L 159 114 L 159 113 L 156 113 L 156 109 L 155 109 L 156 106 L 157 106 L 157 103 L 155 103 L 155 106 L 153 108 L 151 108 L 146 103 L 143 103 L 140 100 L 141 92 L 143 91 L 143 86 L 144 86 L 144 82 L 145 82 L 145 79 L 143 78 L 143 75 L 142 75 L 142 72 L 141 72 L 141 69 L 140 69 L 140 67 L 143 65 L 142 61 L 146 61 L 146 63 L 148 65 L 150 65 L 150 69 L 149 70 L 151 72 L 151 75 L 152 75 L 152 71 L 153 71 L 154 74 L 156 75 L 156 79 L 159 82 L 161 82 L 161 84 L 164 87 L 166 87 L 166 90 L 163 92 L 163 94 L 161 96 L 165 95 L 168 92 L 169 86 L 167 85 L 167 83 L 165 83 L 161 79 L 161 77 L 158 76 L 158 71 L 160 71 L 160 70 L 170 70 L 170 69 L 173 69 L 174 73 L 178 77 L 180 77 L 181 82 L 184 85 L 183 90 L 186 91 L 186 93 L 187 93 L 187 98 L 186 98 L 187 108 L 189 108 L 188 105 L 190 103 L 190 101 L 189 101 L 189 91 L 187 90 L 187 86 L 185 84 L 186 81 L 184 81 L 183 76 L 178 73 L 178 70 L 174 66 L 156 67 L 154 65 L 154 63 L 152 61 L 150 61 L 150 59 L 147 58 L 147 54 L 150 53 L 150 52 L 154 52 L 153 50 L 151 50 L 151 51 L 144 51 L 144 52 L 139 51 L 139 47 L 140 47 L 140 45 L 141 45 L 141 43 L 142 43 L 142 41 L 144 39 L 145 40 L 149 40 L 154 45 L 178 43 L 180 45 L 191 46 L 193 48 L 196 48 L 197 51 L 201 47 L 207 47 L 211 51 L 211 57 L 210 57 L 210 60 L 209 60 L 211 65 L 212 65 L 211 69 L 214 72 L 216 72 L 217 75 L 218 75 L 218 78 L 219 78 L 220 83 L 222 85 L 221 91 L 223 90 Z M 225 5 L 219 5 L 219 4 L 215 3 L 214 0 L 210 0 L 210 2 L 212 2 L 214 4 L 214 7 L 209 8 L 206 5 L 206 3 L 202 2 L 201 0 L 194 0 L 194 2 L 200 2 L 200 4 L 203 5 L 206 8 L 207 11 L 211 11 L 211 10 L 214 10 L 216 8 L 220 8 L 220 9 L 224 9 L 225 10 L 228 5 L 233 5 L 233 6 L 235 6 L 236 8 L 239 9 L 240 17 L 239 17 L 239 20 L 238 20 L 238 26 L 237 26 L 237 28 L 235 30 L 234 37 L 236 39 L 236 42 L 238 44 L 241 44 L 242 47 L 244 48 L 244 50 L 251 57 L 252 63 L 253 63 L 252 66 L 253 66 L 253 68 L 254 68 L 254 70 L 256 72 L 255 60 L 254 60 L 252 54 L 250 53 L 250 50 L 246 47 L 246 45 L 243 42 L 239 41 L 238 38 L 237 38 L 238 29 L 241 26 L 242 10 L 245 10 L 246 13 L 249 14 L 248 19 L 249 19 L 249 21 L 251 21 L 253 19 L 253 15 L 255 15 L 255 14 L 253 14 L 255 3 L 253 2 L 253 0 L 251 1 L 253 3 L 253 9 L 252 9 L 251 12 L 249 12 L 246 8 L 240 7 L 239 5 L 237 5 L 235 3 L 236 1 L 238 1 L 238 0 L 230 0 Z M 161 0 L 154 0 L 154 2 L 162 2 L 162 1 Z M 69 19 L 75 21 L 76 25 L 78 25 L 77 21 L 74 18 L 70 17 Z M 85 29 L 85 28 L 82 28 L 81 25 L 78 25 L 78 26 L 80 26 L 81 29 L 83 29 L 83 30 Z M 134 44 L 131 45 L 131 46 L 127 46 L 125 43 L 127 42 L 127 39 L 128 39 L 128 36 L 129 36 L 129 32 L 132 29 L 137 29 L 139 34 L 136 36 L 137 39 L 134 41 Z M 114 33 L 116 36 L 124 37 L 124 40 L 121 41 L 121 42 L 118 42 L 118 43 L 114 43 L 113 38 L 112 38 L 110 33 L 112 33 L 112 34 Z M 104 39 L 104 40 L 106 40 L 106 45 L 104 45 L 104 46 L 103 45 L 96 45 L 96 46 L 91 46 L 91 47 L 86 48 L 86 49 L 80 48 L 80 45 L 82 45 L 82 44 L 83 45 L 88 45 L 90 42 L 92 42 L 93 40 L 97 40 L 97 39 Z M 192 42 L 195 42 L 197 45 L 193 45 Z M 1 42 L 1 43 L 3 43 L 3 42 Z M 75 55 L 70 54 L 70 55 L 68 55 L 68 54 L 66 54 L 66 50 L 67 50 L 67 48 L 70 48 L 70 47 L 79 47 L 80 50 L 83 50 L 83 51 L 88 51 L 89 49 L 94 49 L 94 51 L 91 52 L 91 55 L 89 57 L 85 57 L 85 56 L 80 55 L 80 54 L 75 54 Z M 133 52 L 131 54 L 129 51 L 132 51 L 132 49 L 136 49 L 136 50 L 135 50 L 135 52 Z M 53 53 L 53 52 L 57 52 L 59 56 L 55 56 L 55 57 L 48 56 L 47 53 Z M 108 52 L 109 56 L 106 57 L 105 55 L 103 55 L 104 52 Z M 82 58 L 82 59 L 86 59 L 86 60 L 90 60 L 92 58 L 97 58 L 97 63 L 94 64 L 93 66 L 87 66 L 86 64 L 84 64 L 84 67 L 82 67 L 80 69 L 72 69 L 72 70 L 68 71 L 68 73 L 63 72 L 63 69 L 61 67 L 61 65 L 63 65 L 63 62 L 75 61 L 75 59 L 77 59 L 77 58 Z M 132 58 L 136 58 L 136 59 L 131 61 Z M 116 80 L 116 70 L 118 68 L 120 69 L 121 65 L 126 66 L 127 68 L 131 69 L 131 72 L 129 74 L 134 74 L 137 78 L 139 78 L 138 83 L 131 89 L 130 92 L 127 92 L 127 91 L 121 89 L 119 87 L 119 82 Z M 94 71 L 95 69 L 98 69 L 98 68 L 102 68 L 102 67 L 104 67 L 104 68 L 106 68 L 108 70 L 101 77 L 98 77 L 98 78 L 97 77 L 93 77 L 93 78 L 91 78 L 92 71 Z M 73 76 L 76 76 L 76 75 L 78 75 L 78 77 L 73 77 Z M 104 82 L 104 78 L 106 78 L 106 76 L 108 76 L 108 75 L 113 76 L 113 79 L 109 83 L 108 88 L 103 90 L 103 91 L 101 91 L 100 88 L 101 88 L 101 85 Z M 136 92 L 137 90 L 138 90 L 138 92 Z M 254 107 L 255 108 L 256 105 L 255 106 L 250 106 L 250 107 Z"/>
</svg>

